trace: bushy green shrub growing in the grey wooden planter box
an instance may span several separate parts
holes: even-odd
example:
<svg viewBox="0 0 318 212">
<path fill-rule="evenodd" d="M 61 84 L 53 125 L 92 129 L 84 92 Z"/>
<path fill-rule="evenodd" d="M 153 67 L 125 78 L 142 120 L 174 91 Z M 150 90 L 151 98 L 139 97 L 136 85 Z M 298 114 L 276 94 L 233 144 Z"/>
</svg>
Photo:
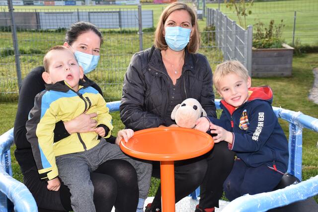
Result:
<svg viewBox="0 0 318 212">
<path fill-rule="evenodd" d="M 283 20 L 278 25 L 275 25 L 274 20 L 270 20 L 268 27 L 262 22 L 254 24 L 256 33 L 253 34 L 253 47 L 258 49 L 282 48 L 284 26 Z"/>
</svg>

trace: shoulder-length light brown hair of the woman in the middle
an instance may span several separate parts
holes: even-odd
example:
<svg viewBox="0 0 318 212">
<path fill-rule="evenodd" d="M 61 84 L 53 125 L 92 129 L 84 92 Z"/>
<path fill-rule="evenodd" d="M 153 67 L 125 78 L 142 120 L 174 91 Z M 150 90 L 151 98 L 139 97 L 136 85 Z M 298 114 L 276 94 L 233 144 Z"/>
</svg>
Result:
<svg viewBox="0 0 318 212">
<path fill-rule="evenodd" d="M 187 45 L 187 50 L 189 53 L 196 53 L 200 47 L 200 34 L 199 34 L 199 28 L 198 28 L 198 20 L 197 16 L 194 12 L 194 10 L 187 4 L 181 3 L 181 2 L 174 2 L 169 4 L 165 9 L 162 11 L 159 22 L 157 25 L 157 29 L 155 31 L 155 41 L 154 45 L 156 48 L 160 50 L 166 50 L 168 48 L 168 45 L 166 44 L 164 37 L 163 37 L 163 29 L 164 29 L 164 23 L 166 19 L 169 17 L 169 15 L 176 11 L 176 10 L 186 10 L 190 17 L 191 17 L 191 24 L 192 24 L 192 30 L 193 34 L 190 38 L 190 42 Z"/>
</svg>

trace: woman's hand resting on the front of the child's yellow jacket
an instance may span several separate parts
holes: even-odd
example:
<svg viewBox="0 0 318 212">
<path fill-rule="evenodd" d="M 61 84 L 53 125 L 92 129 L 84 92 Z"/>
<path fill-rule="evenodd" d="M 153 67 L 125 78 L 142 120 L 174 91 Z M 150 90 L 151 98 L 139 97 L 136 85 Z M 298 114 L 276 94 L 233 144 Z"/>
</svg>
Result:
<svg viewBox="0 0 318 212">
<path fill-rule="evenodd" d="M 97 121 L 93 118 L 95 118 L 96 116 L 96 113 L 82 113 L 71 121 L 64 122 L 65 129 L 68 131 L 69 134 L 94 132 Z"/>
</svg>

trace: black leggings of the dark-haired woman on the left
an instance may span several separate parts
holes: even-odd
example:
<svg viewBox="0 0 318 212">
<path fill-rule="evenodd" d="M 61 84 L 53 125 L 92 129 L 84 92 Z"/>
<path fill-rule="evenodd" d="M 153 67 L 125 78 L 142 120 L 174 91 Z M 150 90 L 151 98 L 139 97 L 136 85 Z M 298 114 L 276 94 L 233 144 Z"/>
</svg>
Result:
<svg viewBox="0 0 318 212">
<path fill-rule="evenodd" d="M 94 186 L 96 212 L 136 212 L 138 182 L 134 167 L 124 160 L 110 160 L 90 174 Z M 39 180 L 36 169 L 24 173 L 24 184 L 32 193 L 39 212 L 73 211 L 71 194 L 62 183 L 58 192 L 47 190 L 47 182 Z"/>
</svg>

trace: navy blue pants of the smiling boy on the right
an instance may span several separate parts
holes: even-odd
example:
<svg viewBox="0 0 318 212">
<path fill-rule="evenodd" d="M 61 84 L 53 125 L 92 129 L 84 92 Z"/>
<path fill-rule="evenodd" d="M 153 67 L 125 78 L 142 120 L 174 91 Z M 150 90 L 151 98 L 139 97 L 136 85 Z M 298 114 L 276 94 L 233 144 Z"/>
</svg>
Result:
<svg viewBox="0 0 318 212">
<path fill-rule="evenodd" d="M 244 194 L 259 194 L 272 191 L 283 175 L 266 165 L 247 167 L 242 160 L 236 160 L 233 169 L 224 182 L 225 196 L 234 200 Z"/>
</svg>

